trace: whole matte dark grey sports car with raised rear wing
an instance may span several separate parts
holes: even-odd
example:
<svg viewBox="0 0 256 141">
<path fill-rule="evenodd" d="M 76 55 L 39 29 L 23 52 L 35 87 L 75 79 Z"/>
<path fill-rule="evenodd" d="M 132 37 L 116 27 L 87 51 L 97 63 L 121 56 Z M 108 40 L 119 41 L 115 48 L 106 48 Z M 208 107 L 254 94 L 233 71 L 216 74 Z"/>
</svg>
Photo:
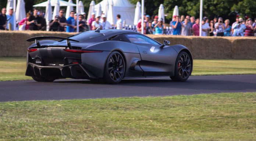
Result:
<svg viewBox="0 0 256 141">
<path fill-rule="evenodd" d="M 27 41 L 34 40 L 28 48 L 26 75 L 35 81 L 74 78 L 117 84 L 125 78 L 163 76 L 186 81 L 193 68 L 192 54 L 183 45 L 168 46 L 167 40 L 160 44 L 129 30 L 97 29 L 68 38 L 40 36 Z"/>
</svg>

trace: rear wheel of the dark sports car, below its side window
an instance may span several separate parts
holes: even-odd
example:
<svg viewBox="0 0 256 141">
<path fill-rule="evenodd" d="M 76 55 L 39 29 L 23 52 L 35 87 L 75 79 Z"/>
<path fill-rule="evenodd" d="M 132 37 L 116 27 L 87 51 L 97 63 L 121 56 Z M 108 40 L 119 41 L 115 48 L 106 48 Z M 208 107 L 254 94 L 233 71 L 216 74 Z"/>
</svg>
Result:
<svg viewBox="0 0 256 141">
<path fill-rule="evenodd" d="M 107 58 L 103 81 L 109 84 L 118 84 L 124 78 L 125 62 L 121 53 L 113 51 Z"/>
</svg>

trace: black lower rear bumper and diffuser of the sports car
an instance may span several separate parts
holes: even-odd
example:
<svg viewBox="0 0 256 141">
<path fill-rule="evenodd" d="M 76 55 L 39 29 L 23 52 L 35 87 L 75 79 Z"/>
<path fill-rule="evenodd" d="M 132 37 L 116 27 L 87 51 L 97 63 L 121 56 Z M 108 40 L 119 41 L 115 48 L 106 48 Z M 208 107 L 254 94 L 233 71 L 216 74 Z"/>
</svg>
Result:
<svg viewBox="0 0 256 141">
<path fill-rule="evenodd" d="M 37 76 L 44 78 L 74 78 L 74 79 L 97 79 L 95 75 L 86 70 L 81 64 L 70 64 L 61 67 L 39 66 L 37 64 L 28 63 L 27 76 Z"/>
</svg>

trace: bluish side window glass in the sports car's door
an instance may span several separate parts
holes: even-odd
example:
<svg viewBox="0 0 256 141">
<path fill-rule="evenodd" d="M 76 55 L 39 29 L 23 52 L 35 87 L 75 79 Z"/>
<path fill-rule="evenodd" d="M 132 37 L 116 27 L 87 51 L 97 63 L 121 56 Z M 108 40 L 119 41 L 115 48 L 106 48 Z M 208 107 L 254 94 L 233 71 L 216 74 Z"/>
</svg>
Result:
<svg viewBox="0 0 256 141">
<path fill-rule="evenodd" d="M 159 45 L 156 41 L 140 34 L 126 34 L 125 36 L 131 41 L 131 43 L 134 44 L 137 43 Z"/>
</svg>

